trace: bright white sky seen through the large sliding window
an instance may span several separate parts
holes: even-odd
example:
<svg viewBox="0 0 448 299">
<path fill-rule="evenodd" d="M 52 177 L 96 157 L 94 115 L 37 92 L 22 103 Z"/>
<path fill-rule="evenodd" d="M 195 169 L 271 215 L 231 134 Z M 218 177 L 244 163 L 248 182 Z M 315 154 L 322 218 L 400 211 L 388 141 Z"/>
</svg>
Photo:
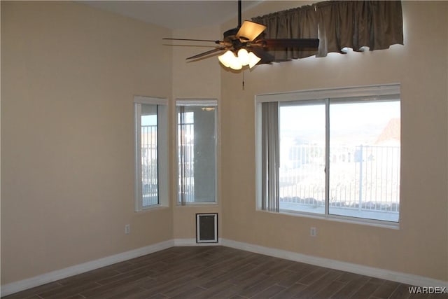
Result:
<svg viewBox="0 0 448 299">
<path fill-rule="evenodd" d="M 325 144 L 325 104 L 281 106 L 279 115 L 284 142 Z M 392 118 L 400 118 L 400 102 L 330 104 L 330 141 L 374 143 Z"/>
</svg>

